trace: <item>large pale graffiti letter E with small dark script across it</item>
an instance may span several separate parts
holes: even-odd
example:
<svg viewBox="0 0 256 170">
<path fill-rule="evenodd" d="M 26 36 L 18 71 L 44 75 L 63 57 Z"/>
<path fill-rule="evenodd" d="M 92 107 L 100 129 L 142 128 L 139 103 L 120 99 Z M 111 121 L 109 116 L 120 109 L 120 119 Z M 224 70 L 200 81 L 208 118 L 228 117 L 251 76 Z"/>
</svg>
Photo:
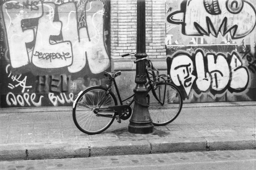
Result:
<svg viewBox="0 0 256 170">
<path fill-rule="evenodd" d="M 36 36 L 36 43 L 34 47 L 34 53 L 32 56 L 33 64 L 40 68 L 54 69 L 61 67 L 68 67 L 72 64 L 72 46 L 70 41 L 62 41 L 58 43 L 51 43 L 49 41 L 51 36 L 57 36 L 61 31 L 61 22 L 54 21 L 55 4 L 43 3 L 44 15 L 38 21 L 38 29 Z M 47 15 L 45 15 L 48 13 Z M 45 24 L 47 23 L 47 24 Z M 43 36 L 42 36 L 43 35 Z M 44 57 L 40 57 L 38 53 L 49 54 L 65 52 L 70 54 L 65 60 L 45 60 Z M 48 55 L 49 56 L 49 55 Z"/>
</svg>

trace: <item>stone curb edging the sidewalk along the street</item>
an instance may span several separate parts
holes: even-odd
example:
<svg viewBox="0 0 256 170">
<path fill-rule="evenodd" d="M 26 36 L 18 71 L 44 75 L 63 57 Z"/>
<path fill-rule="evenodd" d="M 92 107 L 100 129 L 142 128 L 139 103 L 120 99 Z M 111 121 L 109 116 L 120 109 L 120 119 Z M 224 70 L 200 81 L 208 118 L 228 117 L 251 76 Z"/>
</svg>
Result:
<svg viewBox="0 0 256 170">
<path fill-rule="evenodd" d="M 165 138 L 118 142 L 14 144 L 0 146 L 0 161 L 60 159 L 171 152 L 255 149 L 252 135 L 194 138 Z"/>
</svg>

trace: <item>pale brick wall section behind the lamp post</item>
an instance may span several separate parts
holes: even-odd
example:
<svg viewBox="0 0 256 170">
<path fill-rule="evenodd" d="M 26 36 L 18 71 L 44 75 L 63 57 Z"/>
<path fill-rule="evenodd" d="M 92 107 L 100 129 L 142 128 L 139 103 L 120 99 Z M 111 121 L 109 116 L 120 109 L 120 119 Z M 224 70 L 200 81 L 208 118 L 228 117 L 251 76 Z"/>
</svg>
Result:
<svg viewBox="0 0 256 170">
<path fill-rule="evenodd" d="M 111 0 L 111 58 L 136 52 L 137 0 Z M 146 53 L 165 58 L 165 1 L 146 0 Z M 132 56 L 124 57 L 132 58 Z"/>
</svg>

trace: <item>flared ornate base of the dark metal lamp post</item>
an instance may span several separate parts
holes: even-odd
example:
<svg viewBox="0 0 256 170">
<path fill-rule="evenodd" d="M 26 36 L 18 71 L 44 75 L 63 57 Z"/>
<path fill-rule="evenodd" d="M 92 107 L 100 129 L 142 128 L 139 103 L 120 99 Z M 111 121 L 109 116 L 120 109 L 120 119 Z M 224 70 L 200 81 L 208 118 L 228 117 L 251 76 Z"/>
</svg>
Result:
<svg viewBox="0 0 256 170">
<path fill-rule="evenodd" d="M 137 100 L 137 102 L 134 104 L 133 115 L 128 125 L 128 131 L 130 133 L 140 134 L 152 133 L 154 126 L 149 115 L 148 107 L 145 107 L 147 105 L 146 95 L 148 90 L 145 84 L 138 84 L 133 91 L 136 93 L 135 100 Z"/>
</svg>

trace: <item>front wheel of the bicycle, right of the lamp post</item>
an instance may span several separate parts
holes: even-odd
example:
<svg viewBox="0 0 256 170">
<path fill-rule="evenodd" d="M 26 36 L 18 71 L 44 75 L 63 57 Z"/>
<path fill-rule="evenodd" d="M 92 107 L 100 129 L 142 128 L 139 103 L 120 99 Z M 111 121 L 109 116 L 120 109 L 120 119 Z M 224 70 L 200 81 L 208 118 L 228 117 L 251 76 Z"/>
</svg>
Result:
<svg viewBox="0 0 256 170">
<path fill-rule="evenodd" d="M 155 93 L 157 98 L 164 103 L 163 105 L 156 100 L 149 89 L 150 106 L 149 113 L 153 125 L 162 126 L 172 122 L 180 114 L 182 108 L 182 97 L 180 90 L 170 83 L 161 82 L 156 84 Z"/>
</svg>

